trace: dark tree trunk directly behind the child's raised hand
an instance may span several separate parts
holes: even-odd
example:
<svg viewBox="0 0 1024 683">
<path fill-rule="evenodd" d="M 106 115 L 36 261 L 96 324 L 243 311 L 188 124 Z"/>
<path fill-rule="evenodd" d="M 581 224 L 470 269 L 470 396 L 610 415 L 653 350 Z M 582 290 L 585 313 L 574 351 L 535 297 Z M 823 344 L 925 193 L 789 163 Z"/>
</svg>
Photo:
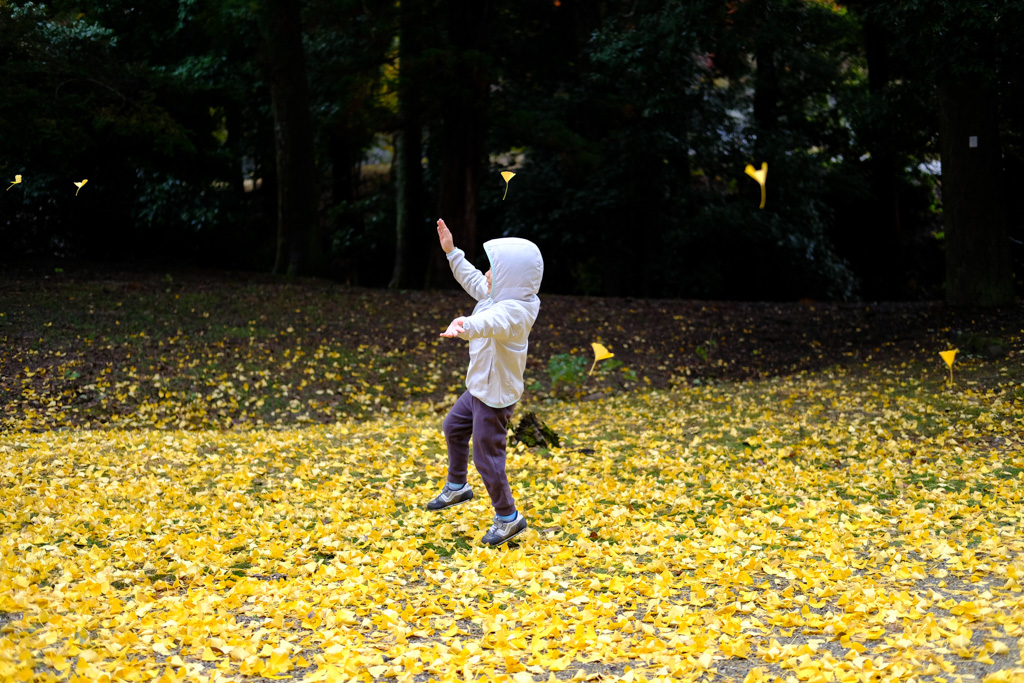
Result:
<svg viewBox="0 0 1024 683">
<path fill-rule="evenodd" d="M 455 244 L 476 262 L 477 218 L 485 161 L 486 105 L 489 83 L 485 65 L 492 0 L 453 0 L 447 10 L 452 70 L 450 92 L 440 103 L 440 189 L 438 216 L 452 229 Z M 445 285 L 447 263 L 437 252 L 428 285 Z"/>
</svg>

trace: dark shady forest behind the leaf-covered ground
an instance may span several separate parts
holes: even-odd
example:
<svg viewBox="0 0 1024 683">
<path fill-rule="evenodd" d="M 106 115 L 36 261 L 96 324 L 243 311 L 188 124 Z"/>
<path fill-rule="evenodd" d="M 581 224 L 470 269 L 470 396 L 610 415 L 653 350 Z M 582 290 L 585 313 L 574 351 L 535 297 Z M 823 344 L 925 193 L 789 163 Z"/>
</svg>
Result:
<svg viewBox="0 0 1024 683">
<path fill-rule="evenodd" d="M 536 241 L 551 293 L 1004 305 L 1024 267 L 1022 16 L 4 2 L 0 262 L 450 287 L 441 216 L 471 257 Z M 759 209 L 743 169 L 762 162 Z"/>
</svg>

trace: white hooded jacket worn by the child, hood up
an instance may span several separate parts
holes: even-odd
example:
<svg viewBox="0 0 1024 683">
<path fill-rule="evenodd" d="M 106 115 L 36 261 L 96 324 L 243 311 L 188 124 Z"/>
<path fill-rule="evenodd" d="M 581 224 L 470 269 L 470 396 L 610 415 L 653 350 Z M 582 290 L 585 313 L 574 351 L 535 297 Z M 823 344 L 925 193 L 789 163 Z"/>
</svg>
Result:
<svg viewBox="0 0 1024 683">
<path fill-rule="evenodd" d="M 483 245 L 490 260 L 487 279 L 454 249 L 447 259 L 455 279 L 477 300 L 463 321 L 460 338 L 469 341 L 466 388 L 490 408 L 506 408 L 522 396 L 529 331 L 541 310 L 537 293 L 544 278 L 544 259 L 532 242 L 499 238 Z"/>
</svg>

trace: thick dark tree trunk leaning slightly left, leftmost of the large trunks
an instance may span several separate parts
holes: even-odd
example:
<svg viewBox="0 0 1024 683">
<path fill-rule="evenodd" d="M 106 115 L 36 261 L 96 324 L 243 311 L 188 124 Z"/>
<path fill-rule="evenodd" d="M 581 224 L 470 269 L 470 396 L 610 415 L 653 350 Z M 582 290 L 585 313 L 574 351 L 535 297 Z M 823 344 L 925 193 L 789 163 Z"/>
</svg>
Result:
<svg viewBox="0 0 1024 683">
<path fill-rule="evenodd" d="M 319 266 L 315 161 L 300 4 L 264 0 L 262 19 L 278 161 L 278 250 L 273 271 L 298 275 Z"/>
</svg>

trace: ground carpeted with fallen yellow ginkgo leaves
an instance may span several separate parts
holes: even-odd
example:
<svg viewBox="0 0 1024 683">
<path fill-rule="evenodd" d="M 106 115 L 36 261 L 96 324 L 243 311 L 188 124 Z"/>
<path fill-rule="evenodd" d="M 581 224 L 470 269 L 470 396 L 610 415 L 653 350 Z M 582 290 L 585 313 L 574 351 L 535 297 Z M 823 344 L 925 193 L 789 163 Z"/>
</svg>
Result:
<svg viewBox="0 0 1024 683">
<path fill-rule="evenodd" d="M 317 292 L 338 296 L 292 294 L 302 308 Z M 684 342 L 648 383 L 659 360 L 616 327 L 635 330 L 621 316 L 651 304 L 605 317 L 608 302 L 582 301 L 635 382 L 606 375 L 559 396 L 535 368 L 519 414 L 562 442 L 510 452 L 530 530 L 492 550 L 472 470 L 474 501 L 423 507 L 443 481 L 439 424 L 465 361 L 435 346 L 435 303 L 414 317 L 349 293 L 373 325 L 424 338 L 371 353 L 353 327 L 317 352 L 302 340 L 336 322 L 271 321 L 270 294 L 245 309 L 267 316 L 263 331 L 225 332 L 228 288 L 236 298 L 201 295 L 209 309 L 194 315 L 210 327 L 175 339 L 146 292 L 122 313 L 93 291 L 93 329 L 15 293 L 0 310 L 16 341 L 3 366 L 0 680 L 1024 679 L 1019 329 L 988 332 L 1000 353 L 962 353 L 951 385 L 945 346 L 922 338 L 903 361 L 854 343 L 853 356 L 752 377 L 710 377 L 742 366 L 730 341 Z M 262 355 L 246 365 L 245 348 Z M 370 367 L 386 358 L 390 374 Z M 317 413 L 335 395 L 360 408 Z"/>
</svg>

